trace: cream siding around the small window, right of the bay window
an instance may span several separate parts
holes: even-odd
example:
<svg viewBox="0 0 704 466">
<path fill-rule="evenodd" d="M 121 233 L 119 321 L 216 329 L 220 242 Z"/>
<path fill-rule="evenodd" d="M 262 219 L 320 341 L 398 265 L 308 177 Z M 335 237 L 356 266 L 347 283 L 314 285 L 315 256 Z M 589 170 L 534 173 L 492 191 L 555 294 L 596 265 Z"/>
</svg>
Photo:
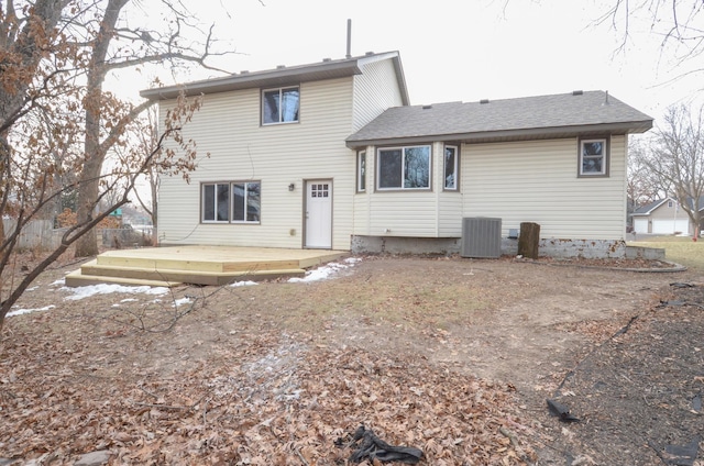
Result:
<svg viewBox="0 0 704 466">
<path fill-rule="evenodd" d="M 536 222 L 543 238 L 622 240 L 625 140 L 612 136 L 609 176 L 598 178 L 576 176 L 578 138 L 464 144 L 463 217 L 501 218 L 504 235 Z"/>
</svg>

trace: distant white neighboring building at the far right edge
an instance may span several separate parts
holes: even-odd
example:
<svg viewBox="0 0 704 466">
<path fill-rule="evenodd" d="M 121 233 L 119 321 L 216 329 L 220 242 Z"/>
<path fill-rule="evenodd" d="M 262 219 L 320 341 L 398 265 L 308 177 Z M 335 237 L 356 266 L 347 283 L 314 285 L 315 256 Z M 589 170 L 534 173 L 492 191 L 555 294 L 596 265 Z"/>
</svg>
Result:
<svg viewBox="0 0 704 466">
<path fill-rule="evenodd" d="M 691 206 L 692 201 L 689 202 Z M 700 206 L 704 203 L 700 202 Z M 632 213 L 632 224 L 636 234 L 694 234 L 690 217 L 672 198 L 639 207 Z"/>
</svg>

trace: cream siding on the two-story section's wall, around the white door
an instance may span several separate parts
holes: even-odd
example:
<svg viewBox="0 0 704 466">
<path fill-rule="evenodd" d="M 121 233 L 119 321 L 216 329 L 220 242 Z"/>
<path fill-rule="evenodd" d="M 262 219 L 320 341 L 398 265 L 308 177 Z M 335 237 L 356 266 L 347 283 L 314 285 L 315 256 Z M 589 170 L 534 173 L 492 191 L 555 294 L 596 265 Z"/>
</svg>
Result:
<svg viewBox="0 0 704 466">
<path fill-rule="evenodd" d="M 161 241 L 302 247 L 304 180 L 326 178 L 336 188 L 332 247 L 349 249 L 356 165 L 355 152 L 344 145 L 352 133 L 351 96 L 352 78 L 304 82 L 300 122 L 267 126 L 260 122 L 258 89 L 206 96 L 185 130 L 197 143 L 198 168 L 189 184 L 180 177 L 162 180 Z M 169 106 L 161 104 L 162 118 Z M 261 223 L 200 223 L 200 184 L 213 180 L 261 181 Z"/>
</svg>

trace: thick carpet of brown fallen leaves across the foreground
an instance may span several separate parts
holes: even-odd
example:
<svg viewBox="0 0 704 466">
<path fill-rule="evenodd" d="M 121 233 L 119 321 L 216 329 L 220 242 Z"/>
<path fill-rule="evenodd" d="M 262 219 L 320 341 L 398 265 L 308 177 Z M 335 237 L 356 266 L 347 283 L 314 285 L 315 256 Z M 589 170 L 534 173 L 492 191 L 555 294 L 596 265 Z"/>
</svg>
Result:
<svg viewBox="0 0 704 466">
<path fill-rule="evenodd" d="M 103 377 L 97 365 L 109 362 L 88 360 L 76 342 L 31 341 L 20 330 L 0 347 L 7 457 L 72 464 L 107 448 L 111 464 L 342 465 L 351 450 L 334 441 L 364 424 L 392 445 L 421 448 L 427 464 L 535 459 L 510 385 L 417 356 L 262 332 L 219 345 L 217 365 Z"/>
</svg>

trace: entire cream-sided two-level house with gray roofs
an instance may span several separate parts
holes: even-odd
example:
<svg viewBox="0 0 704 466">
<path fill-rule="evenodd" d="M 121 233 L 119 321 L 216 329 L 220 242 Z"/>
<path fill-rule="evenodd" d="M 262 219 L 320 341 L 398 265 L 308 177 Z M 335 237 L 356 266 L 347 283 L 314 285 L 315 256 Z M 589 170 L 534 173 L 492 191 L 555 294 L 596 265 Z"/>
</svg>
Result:
<svg viewBox="0 0 704 466">
<path fill-rule="evenodd" d="M 457 252 L 463 218 L 541 226 L 554 254 L 620 255 L 628 134 L 652 119 L 602 91 L 410 106 L 398 53 L 142 91 L 186 129 L 190 184 L 162 180 L 162 244 Z M 512 249 L 513 248 L 513 249 Z M 504 241 L 515 253 L 515 241 Z"/>
</svg>

